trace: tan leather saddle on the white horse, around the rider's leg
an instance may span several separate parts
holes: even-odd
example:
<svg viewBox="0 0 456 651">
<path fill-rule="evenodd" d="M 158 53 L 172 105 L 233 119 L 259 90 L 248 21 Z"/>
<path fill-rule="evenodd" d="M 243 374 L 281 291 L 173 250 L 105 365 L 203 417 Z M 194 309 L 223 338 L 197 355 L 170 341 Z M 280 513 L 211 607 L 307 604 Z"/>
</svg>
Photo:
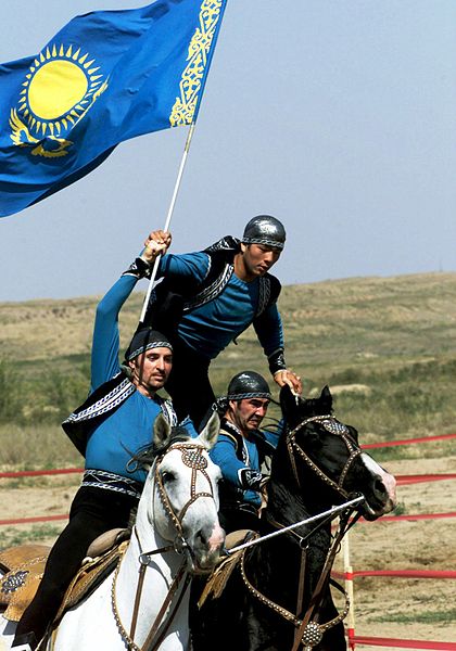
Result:
<svg viewBox="0 0 456 651">
<path fill-rule="evenodd" d="M 90 595 L 112 572 L 125 553 L 129 537 L 128 529 L 118 528 L 93 540 L 65 592 L 54 622 L 59 622 L 66 610 Z M 50 547 L 43 545 L 21 545 L 0 552 L 0 570 L 5 572 L 0 578 L 0 609 L 5 609 L 5 620 L 21 620 L 38 589 L 49 552 Z"/>
</svg>

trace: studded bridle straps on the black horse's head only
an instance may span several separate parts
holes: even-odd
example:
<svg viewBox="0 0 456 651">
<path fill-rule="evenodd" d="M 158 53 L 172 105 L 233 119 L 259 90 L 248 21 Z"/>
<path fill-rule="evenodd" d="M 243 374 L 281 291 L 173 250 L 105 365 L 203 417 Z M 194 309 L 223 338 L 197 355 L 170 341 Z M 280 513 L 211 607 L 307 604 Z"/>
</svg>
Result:
<svg viewBox="0 0 456 651">
<path fill-rule="evenodd" d="M 300 432 L 305 425 L 308 423 L 319 423 L 321 424 L 327 432 L 339 436 L 344 442 L 346 449 L 349 451 L 349 458 L 345 461 L 345 464 L 342 469 L 340 477 L 338 482 L 331 480 L 318 465 L 311 459 L 311 457 L 303 450 L 301 446 L 296 443 L 296 433 Z M 293 469 L 293 474 L 296 480 L 297 486 L 302 489 L 300 476 L 296 468 L 296 459 L 293 452 L 297 452 L 297 455 L 305 461 L 305 463 L 315 472 L 315 474 L 326 484 L 334 488 L 337 493 L 339 493 L 342 497 L 347 499 L 350 497 L 349 493 L 344 489 L 343 484 L 345 482 L 346 475 L 349 474 L 349 470 L 352 467 L 353 461 L 362 454 L 362 450 L 350 434 L 350 430 L 346 425 L 338 421 L 331 414 L 327 416 L 311 416 L 309 418 L 304 419 L 296 427 L 287 433 L 287 448 L 290 456 L 291 467 Z"/>
</svg>

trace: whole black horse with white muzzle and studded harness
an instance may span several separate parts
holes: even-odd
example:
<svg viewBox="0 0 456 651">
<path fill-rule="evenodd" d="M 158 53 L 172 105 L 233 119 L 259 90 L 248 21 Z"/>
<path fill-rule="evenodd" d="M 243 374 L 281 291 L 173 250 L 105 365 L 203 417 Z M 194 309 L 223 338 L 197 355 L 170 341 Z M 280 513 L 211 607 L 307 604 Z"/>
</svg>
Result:
<svg viewBox="0 0 456 651">
<path fill-rule="evenodd" d="M 328 387 L 308 400 L 286 387 L 280 401 L 287 430 L 273 459 L 262 536 L 359 494 L 358 512 L 367 520 L 394 508 L 394 477 L 360 451 L 354 427 L 333 418 Z M 329 574 L 351 514 L 343 512 L 339 535 L 329 518 L 245 549 L 218 598 L 199 609 L 193 596 L 193 650 L 345 650 L 346 613 L 334 607 Z"/>
</svg>

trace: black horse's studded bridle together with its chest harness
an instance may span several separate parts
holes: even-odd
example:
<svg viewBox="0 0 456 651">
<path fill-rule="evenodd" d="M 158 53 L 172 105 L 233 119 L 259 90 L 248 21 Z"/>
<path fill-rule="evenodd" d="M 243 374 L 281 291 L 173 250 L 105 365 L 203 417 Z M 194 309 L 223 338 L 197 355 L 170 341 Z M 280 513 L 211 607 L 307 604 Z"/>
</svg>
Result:
<svg viewBox="0 0 456 651">
<path fill-rule="evenodd" d="M 311 457 L 296 443 L 297 432 L 300 432 L 305 425 L 307 425 L 308 423 L 312 423 L 312 422 L 319 423 L 325 427 L 325 430 L 327 430 L 331 434 L 334 434 L 335 436 L 340 436 L 347 448 L 349 458 L 345 461 L 345 464 L 342 469 L 342 472 L 341 472 L 338 481 L 332 480 L 331 477 L 328 476 L 328 474 L 326 472 L 324 472 L 320 468 L 318 468 L 318 465 L 315 463 L 315 461 L 313 461 L 311 459 Z M 350 497 L 349 493 L 345 490 L 343 485 L 344 485 L 345 478 L 349 474 L 350 468 L 352 467 L 354 460 L 362 454 L 362 450 L 360 450 L 357 442 L 350 434 L 350 430 L 346 425 L 344 425 L 343 423 L 338 421 L 331 414 L 312 416 L 312 417 L 304 419 L 293 430 L 290 430 L 287 433 L 286 442 L 287 442 L 287 449 L 288 449 L 288 454 L 289 454 L 289 458 L 290 458 L 291 468 L 293 470 L 293 475 L 294 475 L 294 478 L 296 481 L 296 484 L 297 484 L 297 487 L 300 488 L 300 490 L 303 490 L 303 487 L 301 485 L 300 476 L 297 473 L 296 455 L 301 459 L 303 459 L 303 461 L 315 472 L 315 474 L 318 476 L 319 480 L 321 480 L 327 485 L 329 485 L 331 488 L 333 488 L 343 498 L 347 499 Z M 305 487 L 304 487 L 304 489 L 305 489 Z M 352 510 L 352 512 L 353 512 L 353 510 Z M 340 622 L 342 622 L 349 613 L 350 600 L 347 598 L 346 591 L 344 590 L 344 588 L 342 588 L 342 586 L 340 586 L 339 584 L 337 584 L 335 582 L 330 579 L 329 575 L 330 575 L 331 567 L 332 567 L 332 564 L 333 564 L 333 561 L 335 558 L 335 553 L 338 552 L 338 549 L 339 549 L 340 542 L 342 541 L 343 536 L 349 531 L 349 528 L 351 526 L 353 526 L 353 524 L 356 522 L 357 518 L 359 518 L 359 514 L 358 514 L 357 516 L 352 519 L 352 521 L 350 522 L 350 514 L 351 514 L 350 511 L 345 511 L 343 513 L 343 515 L 341 516 L 339 531 L 337 532 L 337 534 L 334 535 L 334 537 L 332 539 L 331 547 L 328 551 L 324 569 L 321 571 L 321 574 L 319 576 L 317 585 L 311 597 L 309 605 L 308 605 L 306 612 L 303 613 L 303 616 L 301 616 L 301 613 L 303 610 L 303 599 L 304 599 L 303 585 L 304 585 L 304 574 L 305 574 L 305 566 L 306 566 L 306 550 L 307 550 L 306 541 L 309 538 L 309 536 L 312 536 L 316 532 L 316 529 L 319 528 L 326 521 L 322 521 L 319 525 L 317 525 L 317 527 L 315 529 L 313 529 L 305 537 L 299 536 L 295 532 L 290 532 L 294 537 L 296 537 L 299 539 L 300 547 L 301 547 L 301 567 L 300 567 L 300 579 L 299 579 L 299 593 L 297 593 L 297 600 L 296 600 L 297 601 L 296 615 L 294 615 L 287 609 L 280 607 L 279 604 L 277 604 L 274 601 L 271 601 L 270 599 L 268 599 L 265 595 L 263 595 L 259 590 L 257 590 L 252 585 L 252 583 L 249 580 L 249 578 L 245 574 L 244 554 L 242 553 L 242 556 L 241 556 L 240 571 L 241 571 L 242 580 L 243 580 L 244 585 L 246 586 L 248 590 L 254 597 L 256 597 L 263 604 L 269 607 L 273 611 L 275 611 L 279 615 L 281 615 L 284 620 L 287 620 L 288 622 L 293 624 L 293 626 L 295 628 L 295 634 L 294 634 L 294 642 L 293 642 L 292 651 L 297 651 L 297 649 L 301 646 L 303 646 L 304 651 L 312 651 L 312 649 L 321 641 L 321 638 L 322 638 L 325 631 L 328 630 L 329 628 L 335 626 Z M 276 522 L 271 518 L 267 518 L 267 520 L 276 528 L 283 527 L 282 524 L 280 524 L 279 522 Z M 332 585 L 334 587 L 337 587 L 345 596 L 345 605 L 344 605 L 343 611 L 340 614 L 338 614 L 335 617 L 333 617 L 330 622 L 320 624 L 318 622 L 313 621 L 313 617 L 315 615 L 319 600 L 322 596 L 324 588 L 329 580 L 331 580 Z"/>
</svg>

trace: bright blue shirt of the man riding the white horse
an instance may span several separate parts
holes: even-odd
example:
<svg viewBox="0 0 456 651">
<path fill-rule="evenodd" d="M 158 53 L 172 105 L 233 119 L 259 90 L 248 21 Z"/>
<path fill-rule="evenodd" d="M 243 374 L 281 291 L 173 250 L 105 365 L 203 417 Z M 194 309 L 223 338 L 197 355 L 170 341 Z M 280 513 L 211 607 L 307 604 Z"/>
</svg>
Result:
<svg viewBox="0 0 456 651">
<path fill-rule="evenodd" d="M 137 278 L 123 276 L 97 307 L 91 356 L 91 392 L 121 371 L 118 359 L 118 314 L 135 288 Z M 112 414 L 90 433 L 86 449 L 86 468 L 105 470 L 144 482 L 143 471 L 130 472 L 132 455 L 152 442 L 159 401 L 135 391 Z M 195 436 L 194 429 L 187 427 Z"/>
</svg>

